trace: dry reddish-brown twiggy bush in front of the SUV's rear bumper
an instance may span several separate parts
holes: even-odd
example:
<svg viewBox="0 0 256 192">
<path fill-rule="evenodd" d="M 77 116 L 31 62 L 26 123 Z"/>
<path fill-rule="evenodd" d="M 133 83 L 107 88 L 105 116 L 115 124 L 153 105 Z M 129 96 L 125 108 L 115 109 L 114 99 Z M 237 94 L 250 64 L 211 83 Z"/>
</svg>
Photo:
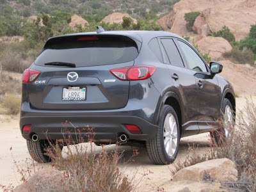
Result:
<svg viewBox="0 0 256 192">
<path fill-rule="evenodd" d="M 101 152 L 95 152 L 92 143 L 93 133 L 81 136 L 81 132 L 92 132 L 92 129 L 84 128 L 79 130 L 77 127 L 76 138 L 79 143 L 88 141 L 88 145 L 77 144 L 70 135 L 65 140 L 52 142 L 48 148 L 45 148 L 45 154 L 51 157 L 52 168 L 61 171 L 61 176 L 54 180 L 47 178 L 42 182 L 33 185 L 36 192 L 43 191 L 92 191 L 92 192 L 129 192 L 134 191 L 138 182 L 134 182 L 134 175 L 124 175 L 118 168 L 121 161 L 122 152 L 118 152 L 116 145 L 115 152 L 106 152 L 102 145 Z M 52 144 L 54 143 L 54 144 Z M 63 145 L 66 145 L 62 150 Z M 136 154 L 134 154 L 136 155 Z M 14 161 L 17 170 L 22 176 L 22 182 L 26 182 L 37 170 L 35 163 L 31 159 L 26 159 L 28 166 L 22 168 L 18 162 Z M 4 191 L 12 191 L 13 186 L 1 186 Z"/>
</svg>

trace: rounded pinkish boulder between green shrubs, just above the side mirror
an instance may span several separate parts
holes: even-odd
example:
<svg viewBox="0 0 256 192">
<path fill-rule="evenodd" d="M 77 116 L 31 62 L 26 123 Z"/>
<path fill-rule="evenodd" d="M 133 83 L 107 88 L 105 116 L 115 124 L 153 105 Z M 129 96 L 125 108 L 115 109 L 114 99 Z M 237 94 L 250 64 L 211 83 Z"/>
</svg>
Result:
<svg viewBox="0 0 256 192">
<path fill-rule="evenodd" d="M 232 50 L 232 46 L 222 37 L 205 36 L 196 42 L 196 45 L 198 45 L 198 49 L 203 53 L 209 52 L 209 56 L 213 60 L 221 58 L 224 52 Z"/>
</svg>

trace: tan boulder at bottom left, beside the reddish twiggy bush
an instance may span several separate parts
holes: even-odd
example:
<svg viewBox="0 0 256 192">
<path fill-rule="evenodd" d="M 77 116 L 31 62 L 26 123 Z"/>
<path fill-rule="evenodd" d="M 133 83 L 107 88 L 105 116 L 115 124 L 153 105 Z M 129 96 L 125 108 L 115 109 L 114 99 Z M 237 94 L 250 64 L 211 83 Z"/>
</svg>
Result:
<svg viewBox="0 0 256 192">
<path fill-rule="evenodd" d="M 63 174 L 52 168 L 44 168 L 32 175 L 26 182 L 20 184 L 13 192 L 36 192 L 41 191 L 60 191 L 60 183 Z M 63 179 L 64 180 L 64 179 Z"/>
</svg>

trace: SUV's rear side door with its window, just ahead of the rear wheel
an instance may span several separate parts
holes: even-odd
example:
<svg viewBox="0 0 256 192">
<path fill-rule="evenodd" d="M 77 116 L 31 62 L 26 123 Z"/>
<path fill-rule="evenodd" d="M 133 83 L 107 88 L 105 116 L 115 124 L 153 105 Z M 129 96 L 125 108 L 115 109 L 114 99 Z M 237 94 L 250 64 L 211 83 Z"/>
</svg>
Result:
<svg viewBox="0 0 256 192">
<path fill-rule="evenodd" d="M 198 134 L 198 109 L 196 104 L 196 79 L 191 70 L 185 67 L 180 53 L 172 38 L 159 39 L 164 63 L 168 67 L 176 93 L 182 100 L 182 136 Z"/>
</svg>

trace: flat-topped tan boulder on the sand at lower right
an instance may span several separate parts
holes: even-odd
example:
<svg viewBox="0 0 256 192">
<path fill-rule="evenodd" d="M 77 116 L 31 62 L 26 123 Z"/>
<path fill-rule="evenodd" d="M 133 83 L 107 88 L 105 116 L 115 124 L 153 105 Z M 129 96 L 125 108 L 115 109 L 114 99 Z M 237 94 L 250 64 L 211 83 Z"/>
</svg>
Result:
<svg viewBox="0 0 256 192">
<path fill-rule="evenodd" d="M 236 181 L 237 170 L 234 162 L 227 158 L 212 159 L 183 168 L 173 175 L 173 181 L 190 180 L 199 182 L 208 179 Z"/>
</svg>

